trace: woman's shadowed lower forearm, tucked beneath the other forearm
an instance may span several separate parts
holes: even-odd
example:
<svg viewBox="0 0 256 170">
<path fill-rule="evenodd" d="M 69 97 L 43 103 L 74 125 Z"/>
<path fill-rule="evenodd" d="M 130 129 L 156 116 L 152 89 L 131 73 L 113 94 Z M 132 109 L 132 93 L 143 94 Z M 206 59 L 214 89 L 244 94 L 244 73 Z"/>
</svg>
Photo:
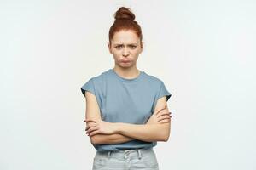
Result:
<svg viewBox="0 0 256 170">
<path fill-rule="evenodd" d="M 96 134 L 90 137 L 92 144 L 121 144 L 131 140 L 134 139 L 119 133 Z"/>
</svg>

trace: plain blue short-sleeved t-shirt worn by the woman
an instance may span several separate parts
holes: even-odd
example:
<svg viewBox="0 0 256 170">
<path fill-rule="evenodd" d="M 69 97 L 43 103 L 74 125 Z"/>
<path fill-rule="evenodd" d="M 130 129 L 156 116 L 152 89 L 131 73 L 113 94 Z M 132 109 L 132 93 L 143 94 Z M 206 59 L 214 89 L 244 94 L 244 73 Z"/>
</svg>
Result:
<svg viewBox="0 0 256 170">
<path fill-rule="evenodd" d="M 145 124 L 154 113 L 158 99 L 170 94 L 164 82 L 159 78 L 140 71 L 139 76 L 126 79 L 120 77 L 113 69 L 91 77 L 82 87 L 95 94 L 102 120 L 106 122 L 125 122 Z M 84 94 L 85 96 L 85 94 Z M 96 150 L 126 150 L 154 147 L 157 142 L 145 142 L 134 139 L 122 144 L 93 144 Z"/>
</svg>

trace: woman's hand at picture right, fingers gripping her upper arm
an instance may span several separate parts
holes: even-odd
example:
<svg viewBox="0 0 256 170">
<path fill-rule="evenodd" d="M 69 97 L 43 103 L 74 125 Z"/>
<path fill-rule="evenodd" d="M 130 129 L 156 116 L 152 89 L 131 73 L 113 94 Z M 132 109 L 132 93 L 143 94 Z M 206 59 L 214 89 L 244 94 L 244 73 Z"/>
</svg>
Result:
<svg viewBox="0 0 256 170">
<path fill-rule="evenodd" d="M 172 117 L 170 114 L 172 114 L 172 112 L 170 112 L 167 108 L 167 105 L 165 105 L 163 108 L 154 111 L 146 124 L 170 122 L 170 118 Z"/>
</svg>

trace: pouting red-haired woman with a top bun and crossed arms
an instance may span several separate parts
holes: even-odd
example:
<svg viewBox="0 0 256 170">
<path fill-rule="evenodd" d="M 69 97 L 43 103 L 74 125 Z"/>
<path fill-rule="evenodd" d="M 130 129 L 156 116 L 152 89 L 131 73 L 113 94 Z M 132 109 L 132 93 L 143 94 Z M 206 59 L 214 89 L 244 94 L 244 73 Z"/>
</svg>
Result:
<svg viewBox="0 0 256 170">
<path fill-rule="evenodd" d="M 81 88 L 85 131 L 96 149 L 93 170 L 159 169 L 153 147 L 169 139 L 166 101 L 172 94 L 159 78 L 137 69 L 143 35 L 135 15 L 121 7 L 115 19 L 108 42 L 114 67 Z"/>
</svg>

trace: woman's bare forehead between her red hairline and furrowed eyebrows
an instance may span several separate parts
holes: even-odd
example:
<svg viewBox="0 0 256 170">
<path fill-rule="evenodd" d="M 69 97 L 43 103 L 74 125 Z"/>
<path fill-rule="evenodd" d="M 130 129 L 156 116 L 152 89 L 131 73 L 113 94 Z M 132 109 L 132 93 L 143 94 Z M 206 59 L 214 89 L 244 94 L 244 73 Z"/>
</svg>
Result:
<svg viewBox="0 0 256 170">
<path fill-rule="evenodd" d="M 113 35 L 113 43 L 137 43 L 140 39 L 134 31 L 118 31 Z"/>
</svg>

